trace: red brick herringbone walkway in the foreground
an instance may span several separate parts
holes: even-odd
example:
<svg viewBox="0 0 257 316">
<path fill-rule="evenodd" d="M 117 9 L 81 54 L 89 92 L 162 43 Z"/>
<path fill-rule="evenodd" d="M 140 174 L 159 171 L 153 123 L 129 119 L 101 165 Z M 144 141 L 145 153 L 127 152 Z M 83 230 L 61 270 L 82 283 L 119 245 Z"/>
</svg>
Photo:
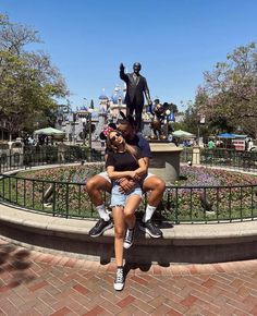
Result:
<svg viewBox="0 0 257 316">
<path fill-rule="evenodd" d="M 257 315 L 257 259 L 126 270 L 0 240 L 0 315 Z"/>
</svg>

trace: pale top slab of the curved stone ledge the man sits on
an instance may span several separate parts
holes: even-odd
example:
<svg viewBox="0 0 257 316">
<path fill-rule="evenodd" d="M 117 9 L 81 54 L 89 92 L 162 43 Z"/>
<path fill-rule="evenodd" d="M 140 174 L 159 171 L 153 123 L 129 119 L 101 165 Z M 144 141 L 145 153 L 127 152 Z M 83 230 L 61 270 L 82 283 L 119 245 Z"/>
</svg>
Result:
<svg viewBox="0 0 257 316">
<path fill-rule="evenodd" d="M 25 211 L 22 208 L 10 207 L 0 204 L 0 222 L 46 235 L 63 235 L 68 239 L 90 240 L 98 239 L 88 236 L 88 232 L 95 224 L 95 220 L 66 219 L 53 217 L 47 214 Z M 144 235 L 136 240 L 136 244 L 155 245 L 207 245 L 223 243 L 240 243 L 245 241 L 257 241 L 256 221 L 237 221 L 230 223 L 194 223 L 175 224 L 163 222 L 161 226 L 163 239 L 150 239 Z M 109 243 L 113 238 L 113 229 L 105 232 L 105 242 Z M 140 234 L 142 236 L 142 234 Z"/>
</svg>

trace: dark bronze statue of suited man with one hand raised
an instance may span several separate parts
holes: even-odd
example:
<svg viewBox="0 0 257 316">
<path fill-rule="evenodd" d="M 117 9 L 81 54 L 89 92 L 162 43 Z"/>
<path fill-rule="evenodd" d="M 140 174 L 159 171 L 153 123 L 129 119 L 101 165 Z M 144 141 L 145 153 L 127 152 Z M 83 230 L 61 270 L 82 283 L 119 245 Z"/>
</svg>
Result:
<svg viewBox="0 0 257 316">
<path fill-rule="evenodd" d="M 152 105 L 146 78 L 139 74 L 140 69 L 140 63 L 135 62 L 133 65 L 134 72 L 125 74 L 125 68 L 123 63 L 121 63 L 120 65 L 120 77 L 126 83 L 126 114 L 133 116 L 135 111 L 136 132 L 140 131 L 144 94 L 146 96 L 148 105 Z"/>
</svg>

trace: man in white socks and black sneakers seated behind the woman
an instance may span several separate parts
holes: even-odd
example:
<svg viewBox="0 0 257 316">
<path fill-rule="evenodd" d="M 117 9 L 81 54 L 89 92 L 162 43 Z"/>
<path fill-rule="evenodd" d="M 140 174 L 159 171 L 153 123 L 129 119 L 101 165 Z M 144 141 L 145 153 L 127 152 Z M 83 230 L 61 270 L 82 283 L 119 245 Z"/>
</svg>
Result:
<svg viewBox="0 0 257 316">
<path fill-rule="evenodd" d="M 122 133 L 127 144 L 135 145 L 140 148 L 142 156 L 145 159 L 148 168 L 149 159 L 151 157 L 148 142 L 143 138 L 142 135 L 136 134 L 135 127 L 128 120 L 123 119 L 122 121 L 120 121 L 118 130 Z M 121 191 L 128 192 L 135 185 L 135 183 L 133 182 L 133 180 L 123 179 L 120 185 Z M 100 220 L 98 220 L 96 226 L 89 231 L 89 235 L 95 238 L 101 235 L 107 229 L 112 228 L 110 216 L 106 210 L 101 196 L 101 191 L 111 192 L 111 181 L 108 178 L 107 172 L 101 172 L 89 179 L 87 181 L 86 187 L 90 199 L 100 216 Z M 143 181 L 143 191 L 149 191 L 149 194 L 147 197 L 148 204 L 146 207 L 146 212 L 139 224 L 139 229 L 148 233 L 151 238 L 161 238 L 162 232 L 151 221 L 151 217 L 162 198 L 163 192 L 166 191 L 166 183 L 157 175 L 148 173 Z"/>
</svg>

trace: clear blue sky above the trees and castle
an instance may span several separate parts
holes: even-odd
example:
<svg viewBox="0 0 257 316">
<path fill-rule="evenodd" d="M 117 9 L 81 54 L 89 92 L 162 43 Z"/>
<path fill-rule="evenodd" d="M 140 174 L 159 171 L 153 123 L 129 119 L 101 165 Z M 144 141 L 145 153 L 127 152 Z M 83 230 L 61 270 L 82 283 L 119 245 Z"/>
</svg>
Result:
<svg viewBox="0 0 257 316">
<path fill-rule="evenodd" d="M 0 0 L 0 12 L 39 32 L 33 49 L 51 57 L 73 109 L 110 97 L 120 63 L 138 61 L 151 99 L 183 110 L 205 71 L 257 41 L 256 0 Z"/>
</svg>

